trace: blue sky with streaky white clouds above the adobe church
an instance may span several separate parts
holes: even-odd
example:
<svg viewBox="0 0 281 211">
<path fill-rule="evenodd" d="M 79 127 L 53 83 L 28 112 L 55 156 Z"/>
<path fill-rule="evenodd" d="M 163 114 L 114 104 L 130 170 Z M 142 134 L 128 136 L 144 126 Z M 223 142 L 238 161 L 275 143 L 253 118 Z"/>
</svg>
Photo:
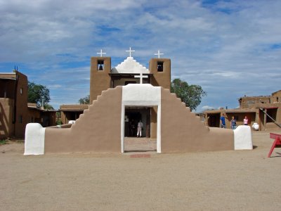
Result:
<svg viewBox="0 0 281 211">
<path fill-rule="evenodd" d="M 207 91 L 197 112 L 281 89 L 280 0 L 0 0 L 0 72 L 15 66 L 50 90 L 50 104 L 89 95 L 90 59 L 129 56 L 148 68 L 159 50 L 171 79 Z"/>
</svg>

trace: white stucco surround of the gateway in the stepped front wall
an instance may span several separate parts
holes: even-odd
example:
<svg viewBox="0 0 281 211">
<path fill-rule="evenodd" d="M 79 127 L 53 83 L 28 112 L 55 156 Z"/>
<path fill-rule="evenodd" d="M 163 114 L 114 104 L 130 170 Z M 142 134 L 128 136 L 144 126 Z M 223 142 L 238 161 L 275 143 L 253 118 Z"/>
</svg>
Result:
<svg viewBox="0 0 281 211">
<path fill-rule="evenodd" d="M 125 106 L 157 107 L 157 153 L 161 153 L 161 87 L 151 84 L 128 84 L 122 87 L 121 152 L 124 153 Z"/>
</svg>

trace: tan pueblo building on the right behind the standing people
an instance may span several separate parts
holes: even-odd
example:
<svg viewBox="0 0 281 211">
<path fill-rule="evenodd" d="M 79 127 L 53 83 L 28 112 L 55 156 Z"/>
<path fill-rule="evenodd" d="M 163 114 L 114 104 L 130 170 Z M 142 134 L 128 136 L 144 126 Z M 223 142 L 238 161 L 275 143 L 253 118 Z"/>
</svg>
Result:
<svg viewBox="0 0 281 211">
<path fill-rule="evenodd" d="M 240 108 L 205 110 L 204 118 L 209 127 L 219 127 L 220 117 L 226 116 L 226 127 L 230 128 L 230 120 L 234 116 L 237 125 L 242 125 L 244 117 L 249 125 L 259 124 L 259 130 L 281 128 L 281 90 L 271 96 L 244 96 L 239 98 Z"/>
</svg>

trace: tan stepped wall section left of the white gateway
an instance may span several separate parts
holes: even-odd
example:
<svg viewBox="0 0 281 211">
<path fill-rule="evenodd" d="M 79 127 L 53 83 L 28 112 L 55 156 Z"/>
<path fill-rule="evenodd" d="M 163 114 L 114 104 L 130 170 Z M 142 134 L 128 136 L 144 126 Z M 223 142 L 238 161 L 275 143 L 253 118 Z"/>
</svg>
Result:
<svg viewBox="0 0 281 211">
<path fill-rule="evenodd" d="M 120 152 L 122 87 L 103 91 L 72 127 L 46 128 L 45 153 Z"/>
</svg>

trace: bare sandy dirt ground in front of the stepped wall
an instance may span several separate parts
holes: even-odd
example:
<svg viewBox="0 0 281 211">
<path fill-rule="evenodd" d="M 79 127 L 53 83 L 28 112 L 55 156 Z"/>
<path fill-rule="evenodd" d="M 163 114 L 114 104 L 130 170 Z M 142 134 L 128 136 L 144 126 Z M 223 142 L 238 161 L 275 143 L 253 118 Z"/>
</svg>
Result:
<svg viewBox="0 0 281 211">
<path fill-rule="evenodd" d="M 0 210 L 280 210 L 281 148 L 267 158 L 273 141 L 253 132 L 253 151 L 150 158 L 24 156 L 23 143 L 11 143 L 0 146 Z"/>
</svg>

